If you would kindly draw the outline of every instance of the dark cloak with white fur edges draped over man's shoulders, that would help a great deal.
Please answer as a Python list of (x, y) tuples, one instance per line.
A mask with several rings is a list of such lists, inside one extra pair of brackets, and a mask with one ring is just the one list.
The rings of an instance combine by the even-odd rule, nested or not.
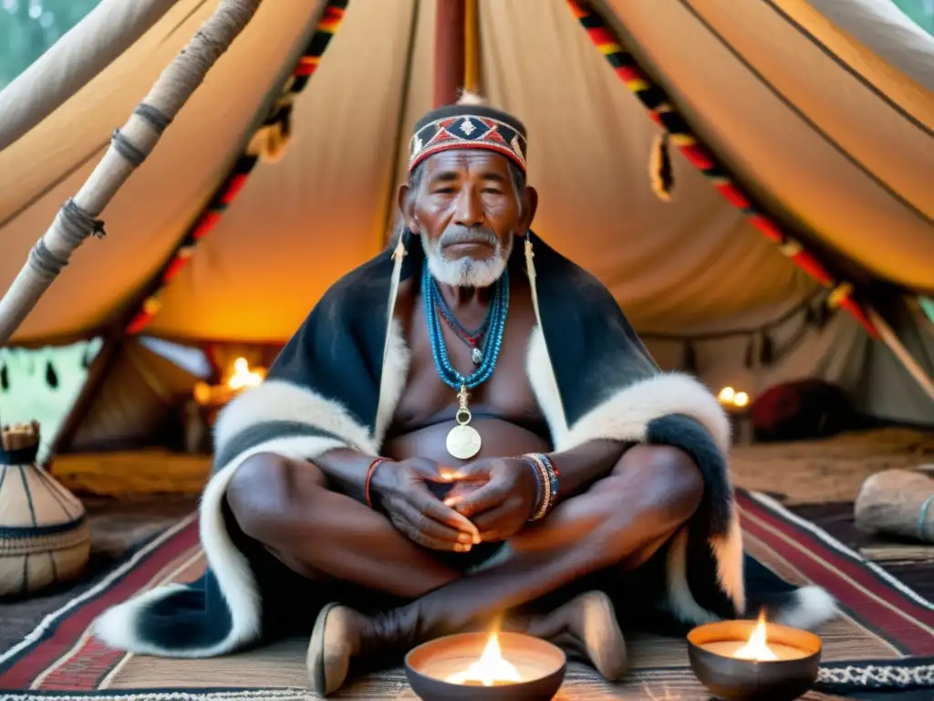
[[(667, 592), (659, 603), (686, 624), (744, 615), (747, 599), (755, 601), (749, 609), (761, 605), (763, 596), (747, 592), (743, 577), (729, 421), (715, 396), (685, 374), (661, 372), (598, 279), (537, 236), (529, 244), (523, 255), (517, 241), (510, 265), (531, 281), (538, 325), (527, 373), (554, 450), (609, 438), (689, 453), (701, 468), (704, 494), (666, 546)], [(109, 609), (96, 622), (98, 637), (122, 650), (178, 657), (219, 655), (262, 640), (260, 573), (227, 527), (225, 489), (237, 467), (259, 452), (306, 460), (339, 447), (379, 454), (409, 365), (392, 322), (398, 281), (417, 280), (424, 260), (417, 242), (408, 248), (403, 255), (401, 241), (396, 254), (384, 250), (336, 282), (267, 379), (220, 414), (200, 507), (204, 577)], [(771, 579), (771, 620), (812, 627), (832, 615), (823, 590), (781, 582), (776, 596), (777, 578)]]

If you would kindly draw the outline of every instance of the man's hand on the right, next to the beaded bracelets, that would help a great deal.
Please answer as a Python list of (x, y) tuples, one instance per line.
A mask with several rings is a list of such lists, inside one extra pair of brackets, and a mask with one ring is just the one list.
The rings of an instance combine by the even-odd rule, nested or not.
[(459, 467), (454, 481), (445, 504), (474, 522), (486, 542), (515, 536), (531, 518), (538, 479), (524, 458), (477, 460)]

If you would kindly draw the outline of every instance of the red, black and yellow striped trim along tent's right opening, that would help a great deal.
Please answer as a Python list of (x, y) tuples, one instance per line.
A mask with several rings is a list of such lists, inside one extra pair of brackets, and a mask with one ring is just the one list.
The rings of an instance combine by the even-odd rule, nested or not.
[[(613, 66), (616, 75), (639, 98), (652, 121), (665, 130), (672, 144), (681, 151), (687, 161), (713, 183), (729, 204), (742, 211), (759, 233), (772, 243), (778, 244), (779, 250), (785, 256), (818, 283), (832, 290), (828, 295), (830, 307), (846, 309), (870, 336), (878, 338), (879, 330), (871, 321), (867, 310), (855, 298), (853, 283), (834, 277), (827, 266), (806, 250), (799, 240), (790, 236), (779, 222), (754, 204), (752, 198), (743, 192), (743, 188), (718, 161), (714, 152), (704, 146), (701, 139), (693, 133), (664, 89), (649, 77), (635, 56), (623, 48), (622, 38), (590, 7), (587, 0), (567, 0), (567, 3), (574, 17), (587, 30), (587, 36), (594, 46)], [(662, 192), (667, 194), (664, 188)]]

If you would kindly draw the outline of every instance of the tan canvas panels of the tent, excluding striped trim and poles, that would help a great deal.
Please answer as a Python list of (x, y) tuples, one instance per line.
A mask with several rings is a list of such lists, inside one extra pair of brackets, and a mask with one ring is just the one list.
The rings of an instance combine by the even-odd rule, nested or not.
[[(860, 0), (857, 21), (832, 2), (769, 0), (741, 11), (728, 0), (595, 3), (773, 215), (861, 281), (929, 294), (934, 84), (925, 66), (934, 64), (934, 38), (907, 29), (887, 5)], [(351, 0), (296, 98), (289, 149), (257, 166), (163, 294), (147, 334), (283, 342), (333, 280), (385, 245), (404, 140), (431, 107), (434, 6)], [(178, 0), (0, 151), (0, 288), (87, 179), (113, 127), (216, 7)], [(87, 336), (158, 270), (242, 150), (318, 10), (262, 4), (106, 208), (109, 236), (77, 251), (14, 342)], [(522, 0), (481, 0), (478, 16), (482, 92), (529, 128), (530, 180), (541, 195), (536, 232), (600, 277), (637, 330), (755, 326), (814, 293), (814, 282), (678, 154), (672, 202), (652, 193), (647, 167), (658, 127), (565, 0), (542, 0), (534, 12)], [(928, 332), (903, 321), (910, 350), (934, 356)], [(793, 333), (786, 325), (779, 336)], [(747, 343), (699, 344), (701, 379), (755, 393), (816, 375), (840, 381), (877, 413), (931, 415), (888, 351), (841, 315), (765, 369), (743, 365)], [(662, 365), (680, 362), (680, 343), (649, 347)]]

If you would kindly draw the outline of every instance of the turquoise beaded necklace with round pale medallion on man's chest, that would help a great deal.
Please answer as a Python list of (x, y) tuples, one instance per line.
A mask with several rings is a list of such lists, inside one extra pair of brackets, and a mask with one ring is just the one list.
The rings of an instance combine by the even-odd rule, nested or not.
[(451, 389), (458, 391), (459, 408), (457, 414), (455, 414), (455, 421), (458, 425), (447, 434), (447, 451), (460, 460), (467, 460), (480, 451), (481, 445), (480, 434), (477, 433), (473, 426), (469, 425), (473, 417), (470, 408), (467, 406), (467, 390), (472, 390), (474, 387), (486, 382), (496, 368), (496, 361), (499, 358), (500, 347), (502, 346), (502, 332), (505, 329), (506, 316), (509, 313), (509, 271), (503, 270), (502, 276), (496, 281), (496, 289), (490, 302), (488, 342), (486, 351), (483, 354), (483, 361), (473, 373), (466, 377), (454, 369), (447, 357), (445, 337), (441, 332), (441, 322), (438, 319), (437, 312), (441, 293), (437, 286), (432, 283), (432, 275), (428, 269), (428, 261), (426, 261), (422, 268), (421, 290), (424, 297), (425, 317), (428, 321), (428, 336), (432, 344), (434, 366), (442, 381)]

